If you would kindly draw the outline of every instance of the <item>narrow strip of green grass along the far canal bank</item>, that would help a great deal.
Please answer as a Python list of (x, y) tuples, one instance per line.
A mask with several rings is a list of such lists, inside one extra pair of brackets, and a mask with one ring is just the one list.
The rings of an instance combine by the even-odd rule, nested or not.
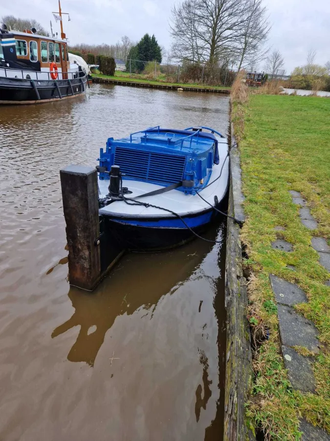
[(160, 86), (177, 86), (177, 87), (196, 87), (199, 89), (224, 89), (224, 90), (230, 90), (230, 87), (224, 87), (224, 86), (207, 86), (205, 84), (198, 84), (198, 83), (169, 83), (166, 81), (166, 75), (165, 73), (160, 73), (157, 75), (157, 80), (150, 80), (147, 79), (147, 75), (143, 74), (136, 74), (132, 73), (130, 76), (127, 72), (120, 72), (116, 71), (113, 76), (111, 75), (103, 75), (101, 73), (93, 73), (92, 76), (99, 77), (99, 78), (109, 78), (114, 79), (116, 81), (130, 81), (132, 83), (145, 83), (145, 84), (152, 84), (152, 85), (160, 85)]

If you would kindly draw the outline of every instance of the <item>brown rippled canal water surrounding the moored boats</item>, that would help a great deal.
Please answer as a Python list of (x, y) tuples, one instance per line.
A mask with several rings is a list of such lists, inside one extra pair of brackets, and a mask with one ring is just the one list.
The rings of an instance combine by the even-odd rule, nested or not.
[(176, 250), (127, 254), (94, 293), (69, 287), (59, 170), (108, 137), (214, 126), (220, 95), (93, 85), (0, 107), (0, 440), (220, 440), (225, 221)]

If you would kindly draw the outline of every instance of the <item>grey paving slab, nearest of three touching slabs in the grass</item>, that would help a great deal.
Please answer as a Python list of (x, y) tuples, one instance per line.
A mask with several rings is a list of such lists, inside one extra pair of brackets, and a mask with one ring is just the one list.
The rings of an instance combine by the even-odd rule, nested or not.
[(294, 349), (282, 346), (284, 366), (293, 389), (301, 392), (315, 392), (315, 377), (312, 362)]

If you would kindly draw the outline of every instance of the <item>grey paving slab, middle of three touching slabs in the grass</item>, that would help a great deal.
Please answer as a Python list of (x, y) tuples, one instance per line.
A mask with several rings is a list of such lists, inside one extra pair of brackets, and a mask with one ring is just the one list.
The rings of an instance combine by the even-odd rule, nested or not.
[(277, 306), (280, 335), (284, 346), (304, 346), (308, 350), (319, 353), (317, 329), (314, 324), (297, 314), (288, 306)]

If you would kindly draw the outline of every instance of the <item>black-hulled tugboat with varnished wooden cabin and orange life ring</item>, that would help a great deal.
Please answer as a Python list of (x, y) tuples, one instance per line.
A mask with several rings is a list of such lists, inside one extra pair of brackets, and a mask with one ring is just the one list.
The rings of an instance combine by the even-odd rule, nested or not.
[(61, 30), (59, 39), (38, 35), (35, 28), (19, 32), (0, 25), (0, 104), (44, 102), (85, 92), (87, 72), (70, 63), (62, 21)]

